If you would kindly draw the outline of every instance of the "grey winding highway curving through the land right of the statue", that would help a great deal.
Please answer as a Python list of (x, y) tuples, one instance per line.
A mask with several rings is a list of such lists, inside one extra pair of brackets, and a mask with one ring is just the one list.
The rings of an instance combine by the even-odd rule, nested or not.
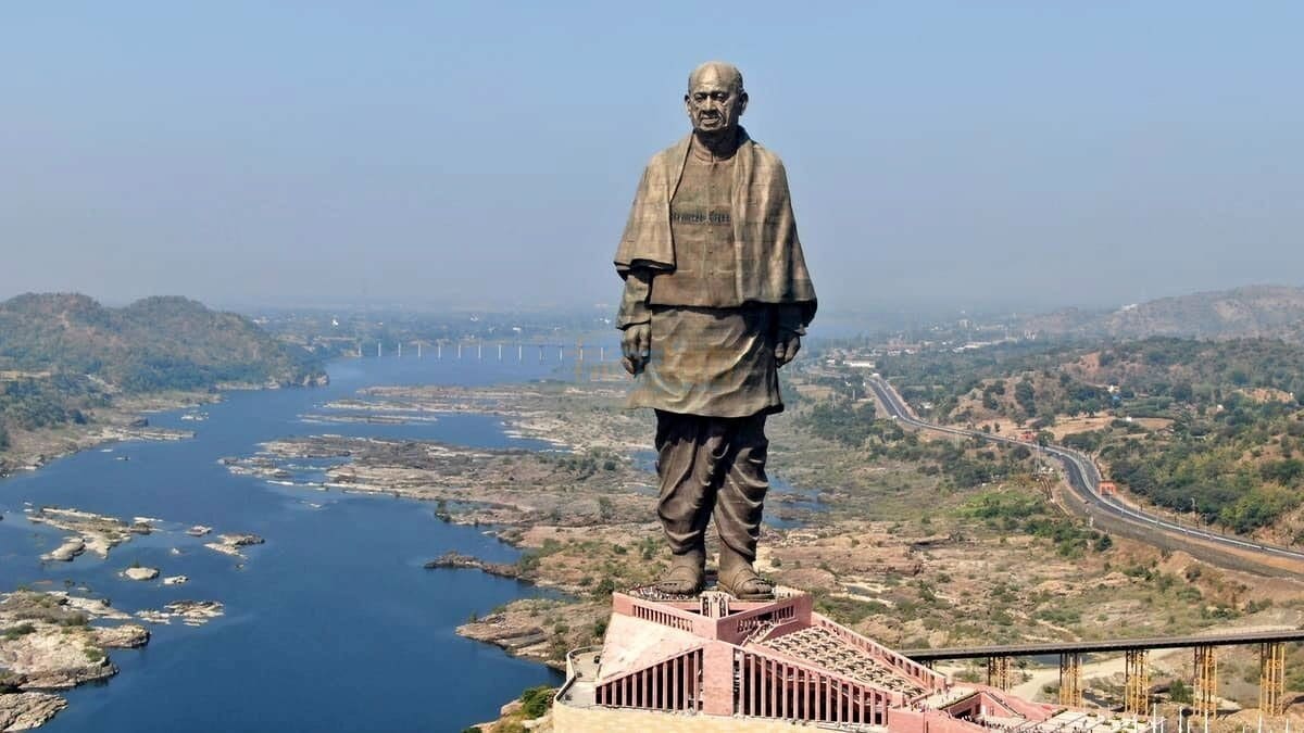
[[(1205, 557), (1206, 560), (1210, 560), (1217, 565), (1231, 565), (1231, 566), (1253, 565), (1254, 570), (1258, 570), (1261, 573), (1267, 573), (1271, 575), (1284, 574), (1296, 578), (1304, 576), (1304, 552), (1291, 548), (1283, 548), (1279, 545), (1256, 543), (1253, 540), (1247, 540), (1244, 537), (1222, 535), (1198, 527), (1185, 527), (1175, 522), (1171, 522), (1168, 519), (1164, 519), (1162, 516), (1157, 516), (1154, 514), (1149, 514), (1136, 507), (1128, 506), (1121, 501), (1119, 501), (1118, 497), (1110, 494), (1102, 494), (1101, 472), (1095, 467), (1095, 462), (1093, 462), (1090, 458), (1076, 450), (1054, 445), (1038, 446), (1037, 443), (1031, 443), (1028, 441), (1007, 438), (1004, 436), (994, 436), (991, 433), (983, 433), (982, 430), (968, 430), (964, 428), (951, 428), (945, 425), (934, 425), (931, 423), (925, 423), (923, 420), (919, 420), (911, 413), (905, 400), (901, 399), (901, 395), (897, 394), (897, 391), (892, 387), (892, 385), (889, 385), (887, 380), (884, 380), (883, 377), (879, 377), (878, 374), (867, 377), (865, 380), (865, 385), (868, 389), (874, 390), (874, 394), (878, 396), (879, 403), (882, 403), (883, 407), (887, 408), (888, 415), (902, 424), (911, 425), (915, 428), (922, 428), (926, 430), (949, 433), (953, 436), (981, 438), (991, 442), (1026, 445), (1034, 450), (1039, 449), (1050, 455), (1054, 455), (1064, 464), (1064, 471), (1068, 476), (1068, 486), (1073, 493), (1073, 496), (1082, 503), (1085, 514), (1097, 518), (1097, 520), (1110, 519), (1112, 520), (1110, 523), (1114, 524), (1115, 527), (1120, 524), (1125, 526), (1127, 528), (1132, 530), (1127, 531), (1125, 533), (1134, 539), (1159, 546), (1170, 546), (1170, 549), (1171, 545), (1174, 544), (1184, 545), (1180, 549), (1191, 552), (1193, 556), (1197, 557)], [(1168, 541), (1159, 541), (1161, 539), (1166, 539)], [(1181, 541), (1183, 539), (1187, 541), (1183, 543)], [(1239, 562), (1231, 561), (1226, 553), (1201, 552), (1206, 549), (1202, 545), (1213, 545), (1215, 548), (1239, 550), (1237, 553)], [(1277, 562), (1270, 565), (1265, 562), (1254, 562), (1253, 560), (1245, 557), (1247, 553), (1251, 557), (1257, 556), (1264, 560), (1271, 558), (1277, 560)], [(1210, 554), (1217, 557), (1210, 557)], [(1291, 562), (1283, 563), (1281, 562), (1282, 560), (1297, 561), (1300, 565), (1292, 565)]]

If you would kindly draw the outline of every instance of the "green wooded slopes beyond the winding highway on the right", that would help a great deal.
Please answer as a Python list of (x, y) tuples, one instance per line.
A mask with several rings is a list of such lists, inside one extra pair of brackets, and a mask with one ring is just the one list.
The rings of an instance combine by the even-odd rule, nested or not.
[[(917, 406), (931, 402), (926, 415), (939, 421), (1037, 432), (1110, 416), (1063, 443), (1098, 455), (1110, 479), (1158, 505), (1252, 532), (1304, 503), (1301, 364), (1304, 347), (1278, 340), (1150, 338), (885, 357), (880, 372)], [(961, 485), (977, 477), (949, 471)]]

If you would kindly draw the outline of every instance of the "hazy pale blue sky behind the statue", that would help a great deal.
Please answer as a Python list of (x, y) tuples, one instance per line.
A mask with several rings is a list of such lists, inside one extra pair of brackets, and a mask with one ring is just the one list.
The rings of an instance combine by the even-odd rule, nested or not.
[(1301, 3), (8, 3), (0, 299), (591, 307), (737, 64), (820, 308), (1304, 284)]

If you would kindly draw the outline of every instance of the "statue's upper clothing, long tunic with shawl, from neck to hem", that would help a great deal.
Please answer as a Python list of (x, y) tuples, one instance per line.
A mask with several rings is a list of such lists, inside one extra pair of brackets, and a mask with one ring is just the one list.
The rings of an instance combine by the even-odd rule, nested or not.
[(741, 134), (728, 159), (686, 138), (643, 175), (615, 257), (626, 278), (617, 325), (652, 331), (631, 407), (709, 417), (782, 410), (776, 335), (803, 333), (815, 292), (782, 164)]

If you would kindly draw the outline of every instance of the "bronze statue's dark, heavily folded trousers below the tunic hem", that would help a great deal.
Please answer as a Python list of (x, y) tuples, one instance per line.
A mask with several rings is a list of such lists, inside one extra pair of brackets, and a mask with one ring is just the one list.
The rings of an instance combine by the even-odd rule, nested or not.
[(659, 410), (657, 515), (675, 556), (705, 557), (712, 515), (720, 563), (756, 560), (765, 490), (765, 415), (707, 417)]

